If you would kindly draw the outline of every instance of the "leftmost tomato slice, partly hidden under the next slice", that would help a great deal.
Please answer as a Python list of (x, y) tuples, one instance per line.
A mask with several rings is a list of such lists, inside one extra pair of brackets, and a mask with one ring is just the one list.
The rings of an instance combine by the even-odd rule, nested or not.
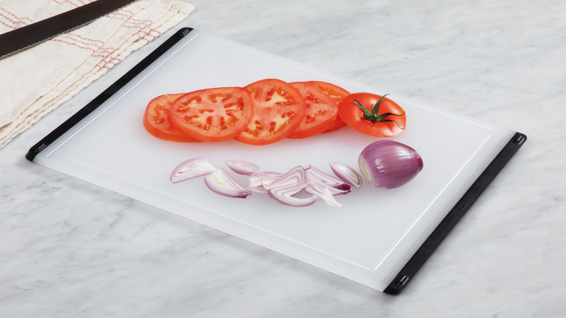
[(167, 119), (173, 101), (183, 95), (184, 94), (167, 94), (149, 101), (144, 114), (144, 127), (149, 134), (159, 139), (169, 141), (201, 142), (199, 139), (181, 134), (181, 131), (174, 129)]

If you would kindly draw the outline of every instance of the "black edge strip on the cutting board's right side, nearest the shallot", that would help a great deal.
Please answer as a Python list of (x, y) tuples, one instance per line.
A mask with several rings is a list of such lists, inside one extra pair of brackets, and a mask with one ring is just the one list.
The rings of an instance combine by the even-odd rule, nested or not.
[(442, 219), (442, 222), (438, 224), (436, 229), (430, 234), (421, 247), (419, 247), (411, 259), (409, 259), (409, 262), (405, 264), (403, 269), (401, 269), (397, 277), (393, 279), (384, 292), (387, 294), (399, 294), (399, 292), (407, 286), (409, 280), (412, 279), (414, 274), (425, 264), (430, 255), (435, 252), (440, 243), (447, 237), (448, 233), (450, 233), (458, 221), (462, 219), (467, 210), (476, 202), (480, 194), (490, 185), (493, 179), (495, 179), (495, 176), (505, 167), (505, 164), (509, 162), (511, 157), (525, 144), (526, 140), (527, 136), (517, 132), (515, 136), (507, 142), (505, 147), (495, 156), (495, 159), (487, 166), (484, 172), (480, 174), (480, 177), (476, 179), (470, 189), (462, 196), (462, 199), (460, 199), (447, 216)]

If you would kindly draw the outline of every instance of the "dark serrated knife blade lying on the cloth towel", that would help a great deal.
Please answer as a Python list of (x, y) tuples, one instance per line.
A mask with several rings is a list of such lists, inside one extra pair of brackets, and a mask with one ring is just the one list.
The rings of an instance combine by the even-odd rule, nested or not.
[(116, 11), (134, 0), (98, 0), (0, 34), (0, 57), (39, 44)]

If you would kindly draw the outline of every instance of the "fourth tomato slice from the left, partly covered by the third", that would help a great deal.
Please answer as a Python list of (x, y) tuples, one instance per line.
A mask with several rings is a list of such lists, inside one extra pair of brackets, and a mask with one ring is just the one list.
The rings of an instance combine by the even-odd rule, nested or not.
[(338, 116), (338, 104), (322, 89), (312, 84), (296, 81), (291, 83), (304, 97), (307, 115), (287, 138), (302, 139), (320, 134), (332, 127)]

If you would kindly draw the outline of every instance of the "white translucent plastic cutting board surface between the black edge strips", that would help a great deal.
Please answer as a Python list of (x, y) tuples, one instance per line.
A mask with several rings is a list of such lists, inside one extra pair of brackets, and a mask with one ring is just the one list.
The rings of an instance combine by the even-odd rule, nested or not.
[[(266, 78), (328, 81), (352, 93), (391, 94), (407, 111), (407, 128), (392, 139), (416, 149), (424, 169), (397, 189), (377, 189), (367, 182), (352, 188), (352, 193), (337, 197), (344, 205), (341, 209), (323, 202), (292, 208), (262, 194), (221, 197), (202, 178), (169, 182), (177, 164), (197, 156), (224, 167), (243, 185), (247, 179), (232, 173), (224, 161), (242, 159), (272, 172), (312, 164), (329, 174), (329, 162), (343, 162), (359, 171), (360, 152), (379, 139), (348, 126), (308, 139), (251, 146), (234, 140), (163, 141), (142, 125), (147, 103), (156, 96), (245, 86)], [(34, 162), (383, 291), (513, 134), (194, 30), (41, 151)]]

